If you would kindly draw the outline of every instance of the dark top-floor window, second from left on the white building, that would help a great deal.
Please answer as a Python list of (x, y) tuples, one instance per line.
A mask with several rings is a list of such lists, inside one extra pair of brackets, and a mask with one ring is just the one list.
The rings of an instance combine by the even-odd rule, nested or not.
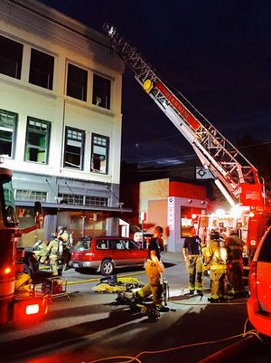
[[(41, 58), (42, 56), (43, 58), (43, 62), (48, 62), (47, 66), (48, 66), (48, 70), (42, 70), (42, 62), (41, 62)], [(47, 58), (47, 60), (46, 60)], [(29, 78), (28, 81), (31, 84), (34, 84), (35, 86), (39, 86), (42, 88), (45, 88), (46, 90), (51, 90), (52, 91), (52, 87), (53, 87), (53, 72), (54, 72), (54, 60), (55, 57), (52, 56), (51, 54), (39, 51), (37, 49), (32, 48), (31, 49), (31, 54), (30, 54), (30, 65), (29, 65)], [(47, 86), (45, 86), (45, 82), (42, 84), (42, 82), (39, 82), (39, 77), (36, 78), (37, 73), (38, 75), (41, 74), (41, 72), (43, 72), (44, 74), (47, 74)], [(46, 73), (47, 72), (47, 73)], [(38, 80), (38, 81), (36, 81)], [(44, 81), (44, 80), (42, 80)]]

